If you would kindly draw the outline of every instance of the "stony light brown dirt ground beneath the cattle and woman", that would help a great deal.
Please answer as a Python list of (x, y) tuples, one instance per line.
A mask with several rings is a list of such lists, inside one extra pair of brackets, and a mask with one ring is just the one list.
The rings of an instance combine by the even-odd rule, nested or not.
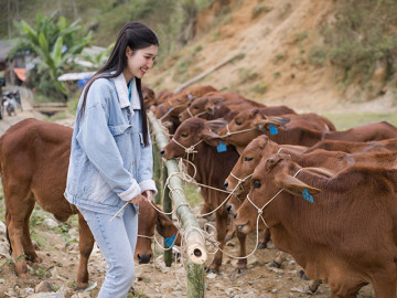
[[(45, 215), (47, 216), (52, 217)], [(78, 232), (76, 227), (71, 227), (64, 233), (71, 236), (69, 241), (44, 224), (34, 228), (36, 237), (45, 240), (45, 247), (37, 251), (41, 263), (29, 263), (28, 279), (15, 276), (14, 265), (10, 262), (9, 255), (0, 255), (0, 297), (30, 297), (34, 295), (34, 288), (42, 281), (50, 284), (52, 295), (54, 295), (42, 297), (96, 297), (105, 277), (106, 263), (95, 246), (88, 267), (92, 289), (78, 291), (76, 288), (78, 243), (74, 241), (78, 238)], [(159, 236), (158, 240), (161, 241)], [(0, 243), (6, 243), (3, 234), (0, 234)], [(247, 244), (247, 252), (251, 252), (256, 244), (255, 234), (249, 235)], [(154, 263), (136, 265), (135, 297), (185, 297), (184, 267), (181, 262), (165, 267), (162, 251), (155, 247)], [(226, 251), (232, 255), (237, 255), (238, 241), (230, 240)], [(308, 287), (309, 281), (300, 278), (301, 268), (291, 257), (280, 269), (269, 267), (268, 264), (275, 259), (277, 253), (278, 249), (271, 243), (268, 248), (256, 251), (248, 258), (248, 270), (240, 275), (235, 270), (237, 260), (225, 256), (221, 274), (205, 274), (205, 297), (330, 297), (328, 285), (321, 285), (314, 295), (304, 292), (303, 289)], [(132, 297), (132, 292), (129, 297)], [(372, 287), (363, 288), (358, 297), (374, 297)]]

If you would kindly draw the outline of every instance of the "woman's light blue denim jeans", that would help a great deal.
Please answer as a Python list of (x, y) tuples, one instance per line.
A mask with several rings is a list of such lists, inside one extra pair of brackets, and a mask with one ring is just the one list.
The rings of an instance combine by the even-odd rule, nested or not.
[(99, 298), (127, 297), (133, 281), (133, 254), (138, 236), (138, 205), (128, 204), (122, 215), (116, 216), (79, 209), (103, 256), (106, 277)]

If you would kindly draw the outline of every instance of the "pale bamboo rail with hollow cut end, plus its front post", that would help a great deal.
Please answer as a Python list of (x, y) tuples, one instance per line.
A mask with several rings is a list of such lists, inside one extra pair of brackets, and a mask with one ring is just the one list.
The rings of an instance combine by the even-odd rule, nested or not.
[[(168, 143), (169, 139), (162, 132), (159, 120), (151, 111), (148, 113), (148, 119), (151, 124), (151, 128), (155, 136), (159, 148), (163, 148)], [(165, 167), (168, 170), (168, 175), (179, 172), (176, 162), (174, 160), (167, 160)], [(181, 179), (176, 175), (172, 175), (169, 179), (169, 187), (170, 189), (175, 190), (171, 193), (171, 199), (176, 209), (176, 216), (181, 221), (184, 231), (184, 241), (187, 253), (187, 297), (204, 298), (204, 263), (207, 259), (205, 240), (200, 232), (200, 225), (185, 200), (184, 193), (182, 191)]]

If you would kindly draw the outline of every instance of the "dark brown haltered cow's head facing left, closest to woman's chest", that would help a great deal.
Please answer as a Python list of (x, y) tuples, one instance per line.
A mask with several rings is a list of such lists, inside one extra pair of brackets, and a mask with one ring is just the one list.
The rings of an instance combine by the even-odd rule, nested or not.
[(226, 124), (224, 119), (207, 121), (197, 117), (190, 118), (178, 127), (173, 139), (161, 150), (161, 155), (167, 159), (184, 157), (189, 153), (189, 148), (196, 150), (203, 141), (216, 146), (222, 138), (215, 132)]

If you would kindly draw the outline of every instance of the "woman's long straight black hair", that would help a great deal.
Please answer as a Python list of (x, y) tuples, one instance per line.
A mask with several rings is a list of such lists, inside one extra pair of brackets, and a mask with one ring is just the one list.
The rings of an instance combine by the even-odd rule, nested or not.
[[(83, 96), (82, 107), (78, 113), (78, 120), (84, 115), (84, 109), (87, 102), (87, 93), (93, 82), (99, 77), (105, 77), (105, 78), (117, 77), (122, 73), (122, 71), (127, 66), (127, 56), (126, 56), (127, 46), (129, 46), (133, 52), (140, 49), (148, 47), (150, 45), (157, 45), (157, 46), (160, 45), (159, 38), (157, 36), (153, 30), (139, 22), (128, 22), (122, 26), (117, 38), (115, 47), (112, 49), (111, 54), (108, 61), (106, 62), (105, 66), (101, 67), (98, 72), (96, 72), (92, 76), (92, 78), (89, 78), (87, 83), (84, 85), (84, 92), (83, 92), (84, 96)], [(111, 72), (115, 73), (110, 74)], [(149, 145), (148, 119), (143, 104), (141, 79), (136, 77), (136, 82), (137, 82), (137, 89), (141, 106), (143, 143), (144, 146), (148, 146)]]

